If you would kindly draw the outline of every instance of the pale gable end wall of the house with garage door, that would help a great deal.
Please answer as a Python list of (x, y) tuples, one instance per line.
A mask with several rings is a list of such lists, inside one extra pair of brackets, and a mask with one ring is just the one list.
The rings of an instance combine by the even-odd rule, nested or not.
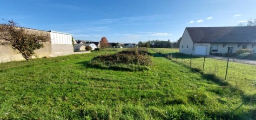
[[(182, 48), (183, 46), (183, 48)], [(188, 46), (188, 48), (187, 48)], [(182, 36), (182, 40), (180, 42), (180, 48), (179, 48), (180, 53), (184, 54), (191, 54), (193, 53), (193, 41), (189, 36), (189, 32), (185, 30)]]

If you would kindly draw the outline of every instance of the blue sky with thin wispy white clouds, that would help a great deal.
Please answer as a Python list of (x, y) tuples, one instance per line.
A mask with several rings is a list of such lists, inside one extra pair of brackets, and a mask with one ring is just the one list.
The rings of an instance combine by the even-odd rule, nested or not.
[(256, 0), (0, 0), (0, 22), (73, 34), (74, 39), (176, 41), (186, 27), (256, 19)]

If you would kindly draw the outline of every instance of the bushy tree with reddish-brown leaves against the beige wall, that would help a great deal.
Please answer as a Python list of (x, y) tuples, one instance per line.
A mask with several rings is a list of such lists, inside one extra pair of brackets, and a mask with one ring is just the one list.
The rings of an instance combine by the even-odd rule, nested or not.
[(29, 60), (35, 54), (34, 50), (44, 47), (43, 43), (50, 41), (47, 35), (29, 34), (19, 27), (13, 20), (0, 24), (0, 42), (2, 45), (10, 45), (18, 50), (22, 56)]

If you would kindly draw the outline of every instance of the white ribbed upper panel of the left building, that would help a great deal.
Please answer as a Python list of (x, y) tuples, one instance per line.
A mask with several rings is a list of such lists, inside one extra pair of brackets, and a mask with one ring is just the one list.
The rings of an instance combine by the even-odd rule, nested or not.
[(72, 44), (72, 35), (51, 32), (52, 44)]

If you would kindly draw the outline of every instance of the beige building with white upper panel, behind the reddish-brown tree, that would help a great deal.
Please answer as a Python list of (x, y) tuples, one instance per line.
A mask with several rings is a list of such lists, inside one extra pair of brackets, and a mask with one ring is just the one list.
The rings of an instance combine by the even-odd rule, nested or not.
[[(51, 42), (44, 43), (43, 48), (35, 50), (35, 55), (37, 57), (56, 57), (74, 54), (72, 34), (56, 31), (42, 31), (24, 27), (23, 29), (31, 34), (46, 34), (51, 40)], [(0, 63), (19, 60), (25, 60), (19, 51), (14, 51), (10, 45), (0, 45)]]

